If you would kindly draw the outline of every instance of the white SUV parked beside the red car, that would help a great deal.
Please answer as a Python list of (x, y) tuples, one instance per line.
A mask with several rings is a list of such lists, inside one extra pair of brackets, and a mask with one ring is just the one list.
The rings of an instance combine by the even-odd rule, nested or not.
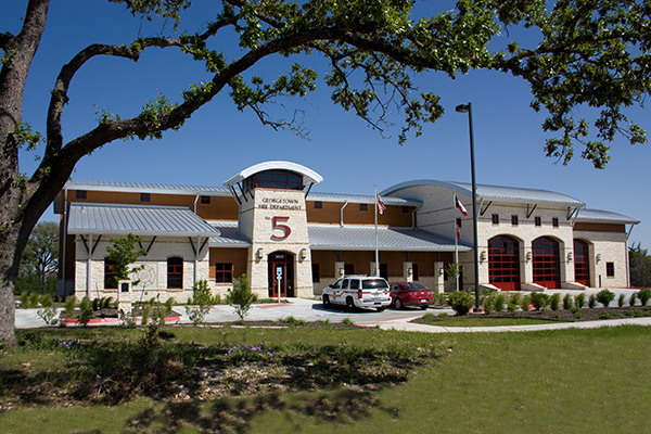
[(372, 307), (379, 311), (391, 305), (391, 291), (386, 280), (380, 277), (346, 276), (323, 290), (323, 306), (343, 305), (349, 310), (355, 307)]

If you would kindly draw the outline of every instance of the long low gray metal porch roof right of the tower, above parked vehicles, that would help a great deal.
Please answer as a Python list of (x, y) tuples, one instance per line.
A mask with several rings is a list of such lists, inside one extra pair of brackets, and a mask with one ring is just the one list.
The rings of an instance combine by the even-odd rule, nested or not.
[[(375, 228), (372, 226), (310, 225), (309, 245), (315, 251), (374, 251)], [(378, 228), (378, 250), (407, 252), (454, 252), (455, 240), (411, 228)], [(470, 251), (459, 243), (459, 252)]]

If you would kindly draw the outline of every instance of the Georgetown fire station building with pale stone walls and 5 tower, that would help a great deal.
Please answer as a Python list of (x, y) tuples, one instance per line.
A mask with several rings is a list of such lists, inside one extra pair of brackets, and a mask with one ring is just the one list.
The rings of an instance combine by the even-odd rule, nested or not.
[[(469, 184), (404, 182), (380, 193), (386, 208), (376, 215), (374, 195), (312, 191), (322, 180), (291, 162), (254, 165), (222, 187), (72, 180), (54, 203), (61, 288), (115, 298), (106, 247), (129, 233), (146, 251), (130, 289), (145, 299), (184, 301), (199, 280), (224, 294), (242, 275), (260, 297), (311, 297), (353, 273), (444, 292), (455, 285), (445, 271), (455, 257), (463, 288), (474, 284)], [(482, 286), (628, 285), (627, 240), (638, 220), (546, 190), (477, 186), (476, 193)]]

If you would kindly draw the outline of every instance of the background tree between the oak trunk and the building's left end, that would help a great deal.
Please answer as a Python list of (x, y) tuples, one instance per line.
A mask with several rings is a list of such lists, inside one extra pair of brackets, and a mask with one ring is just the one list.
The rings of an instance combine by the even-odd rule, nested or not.
[(46, 221), (36, 225), (21, 258), (15, 292), (38, 291), (54, 294), (59, 269), (59, 225)]

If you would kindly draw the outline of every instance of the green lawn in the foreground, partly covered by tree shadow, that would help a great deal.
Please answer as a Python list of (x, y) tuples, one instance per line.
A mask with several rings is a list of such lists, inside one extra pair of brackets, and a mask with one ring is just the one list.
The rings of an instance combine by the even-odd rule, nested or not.
[[(299, 360), (305, 366), (292, 371), (294, 376), (319, 368), (334, 381), (318, 390), (302, 386), (314, 385), (311, 379), (312, 383), (288, 383), (298, 385), (291, 390), (261, 388), (255, 396), (205, 401), (169, 401), (150, 396), (119, 405), (65, 407), (63, 399), (47, 406), (22, 400), (0, 414), (0, 432), (649, 432), (651, 328), (454, 335), (327, 327), (165, 330), (174, 333), (176, 337), (169, 344), (177, 347), (225, 348), (264, 342), (278, 350), (276, 357), (282, 356), (275, 359), (276, 368)], [(47, 337), (65, 333), (65, 339), (123, 342), (143, 331), (43, 333)], [(323, 355), (330, 359), (324, 360)], [(368, 358), (376, 371), (362, 375), (356, 355)], [(379, 356), (375, 359), (373, 355)], [(52, 372), (85, 360), (71, 358), (48, 345), (28, 344), (14, 354), (2, 355), (0, 374), (4, 379), (29, 369), (35, 378), (38, 372), (55, 376)], [(406, 370), (381, 366), (396, 362), (404, 362)], [(245, 360), (237, 367), (253, 378), (260, 366)], [(347, 372), (337, 376), (339, 368)], [(390, 381), (369, 381), (383, 374)], [(0, 386), (5, 388), (0, 390), (2, 395), (7, 395), (8, 383), (0, 382)]]

